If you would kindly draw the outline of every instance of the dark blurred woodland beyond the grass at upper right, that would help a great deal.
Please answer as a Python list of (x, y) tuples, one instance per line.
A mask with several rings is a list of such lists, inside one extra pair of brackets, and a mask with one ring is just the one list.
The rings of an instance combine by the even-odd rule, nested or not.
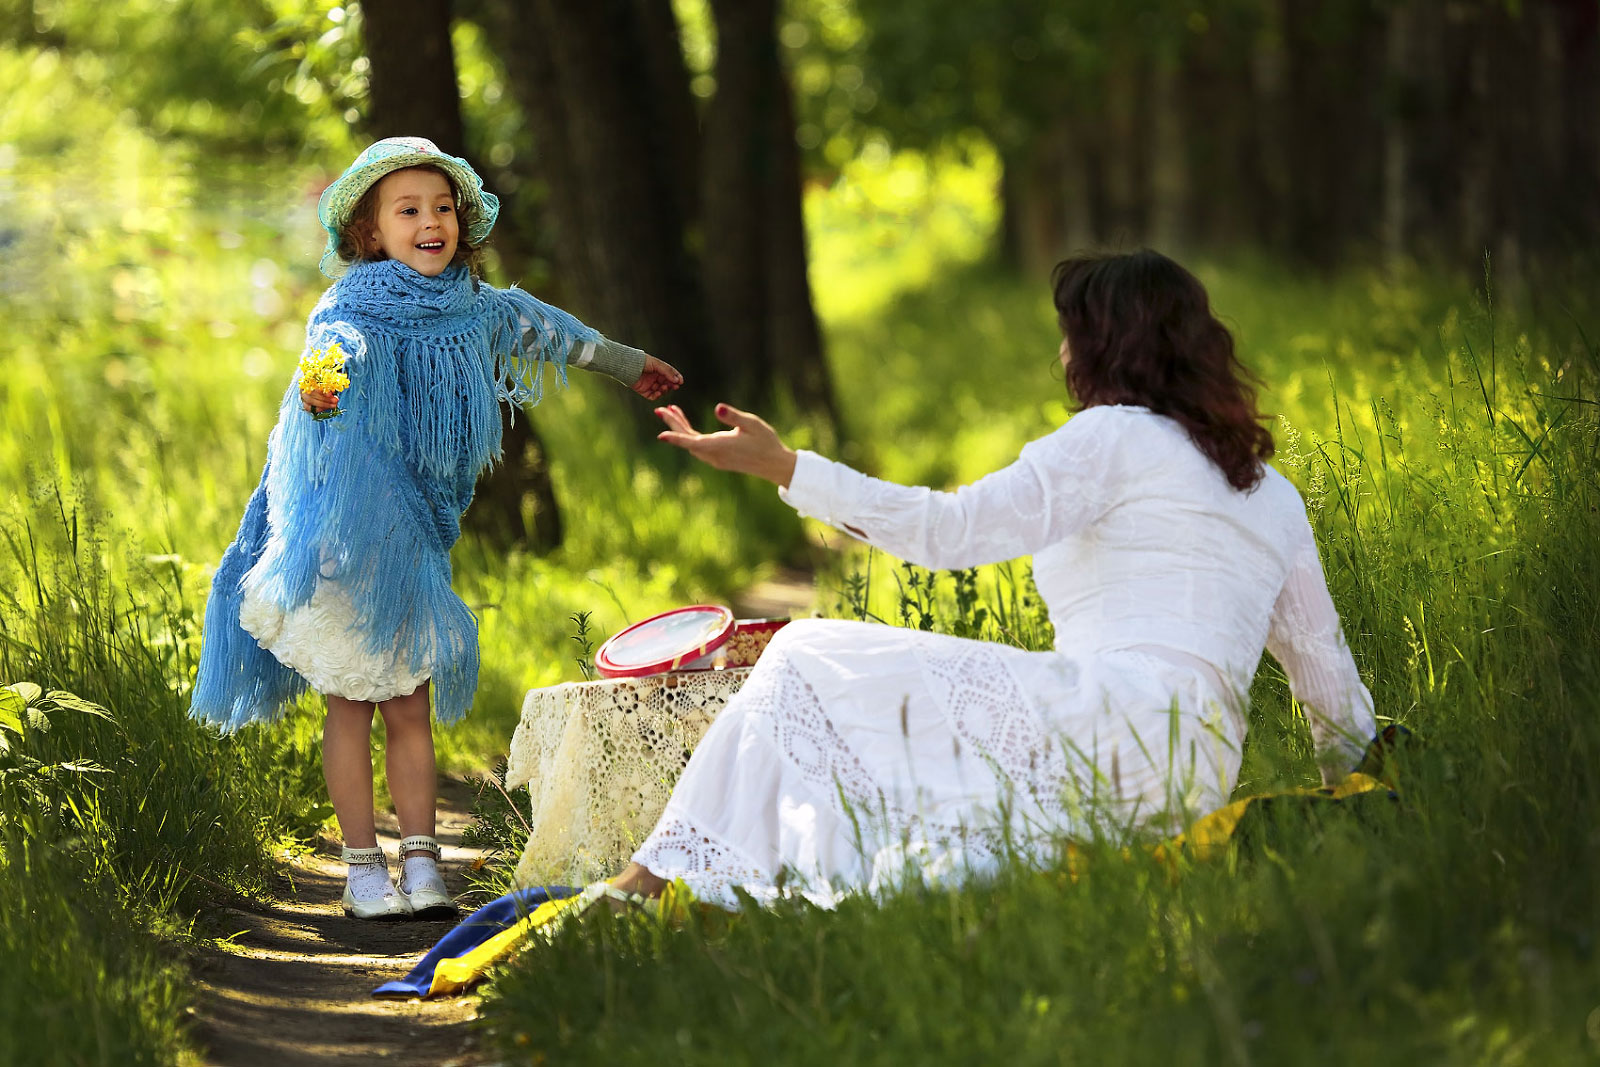
[(858, 34), (814, 38), (867, 102), (813, 115), (907, 146), (978, 131), (1005, 170), (1002, 251), (1034, 272), (1152, 242), (1320, 266), (1493, 250), (1517, 277), (1600, 235), (1594, 0), (854, 10)]

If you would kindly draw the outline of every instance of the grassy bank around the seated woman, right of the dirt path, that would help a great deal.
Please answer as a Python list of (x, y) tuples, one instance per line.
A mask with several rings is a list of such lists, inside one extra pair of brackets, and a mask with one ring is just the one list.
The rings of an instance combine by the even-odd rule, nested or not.
[[(1600, 1049), (1595, 347), (1570, 320), (1512, 325), (1482, 294), (1440, 306), (1421, 277), (1352, 275), (1320, 310), (1250, 270), (1206, 280), (1283, 413), (1278, 464), (1306, 494), (1379, 713), (1426, 739), (1400, 765), (1402, 801), (1278, 827), (1176, 880), (1090, 846), (1077, 881), (1016, 867), (682, 931), (602, 917), (496, 982), (507, 1059), (1550, 1064)], [(867, 459), (934, 483), (1008, 459), (1062, 414), (1043, 387), (1050, 328), (1042, 286), (978, 274), (835, 333)], [(891, 387), (914, 374), (939, 387)], [(928, 576), (872, 565), (843, 613), (1048, 640), (1005, 574), (976, 576), (979, 601), (941, 577), (930, 603)], [(1242, 792), (1312, 777), (1270, 662), (1246, 747)]]

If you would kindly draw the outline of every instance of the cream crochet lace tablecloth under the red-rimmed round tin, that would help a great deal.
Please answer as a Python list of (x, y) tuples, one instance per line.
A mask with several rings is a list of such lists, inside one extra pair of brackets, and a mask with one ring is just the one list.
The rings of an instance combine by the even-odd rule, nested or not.
[(587, 885), (621, 870), (749, 673), (685, 670), (530, 689), (506, 766), (506, 789), (526, 784), (533, 801), (517, 883)]

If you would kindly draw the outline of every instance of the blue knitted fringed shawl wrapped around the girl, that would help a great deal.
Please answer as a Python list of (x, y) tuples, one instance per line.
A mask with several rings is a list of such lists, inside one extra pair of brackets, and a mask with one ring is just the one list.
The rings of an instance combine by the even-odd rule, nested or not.
[(429, 278), (392, 259), (352, 266), (306, 326), (307, 350), (344, 349), (342, 414), (312, 419), (298, 381), (283, 394), (261, 485), (211, 581), (189, 713), (235, 729), (304, 693), (240, 627), (243, 587), (293, 611), (336, 581), (358, 619), (349, 640), (422, 667), (438, 720), (461, 718), (478, 683), (478, 629), (450, 589), (450, 547), (478, 475), (499, 459), (499, 403), (538, 403), (544, 363), (565, 386), (568, 350), (598, 336), (466, 267)]

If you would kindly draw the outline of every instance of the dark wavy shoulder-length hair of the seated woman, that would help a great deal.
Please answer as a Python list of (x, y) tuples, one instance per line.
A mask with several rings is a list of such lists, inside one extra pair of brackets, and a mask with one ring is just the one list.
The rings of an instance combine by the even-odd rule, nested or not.
[(1067, 389), (1083, 408), (1141, 405), (1189, 430), (1235, 490), (1261, 482), (1272, 434), (1256, 378), (1211, 314), (1200, 280), (1142, 250), (1064, 259), (1051, 272), (1067, 339)]

